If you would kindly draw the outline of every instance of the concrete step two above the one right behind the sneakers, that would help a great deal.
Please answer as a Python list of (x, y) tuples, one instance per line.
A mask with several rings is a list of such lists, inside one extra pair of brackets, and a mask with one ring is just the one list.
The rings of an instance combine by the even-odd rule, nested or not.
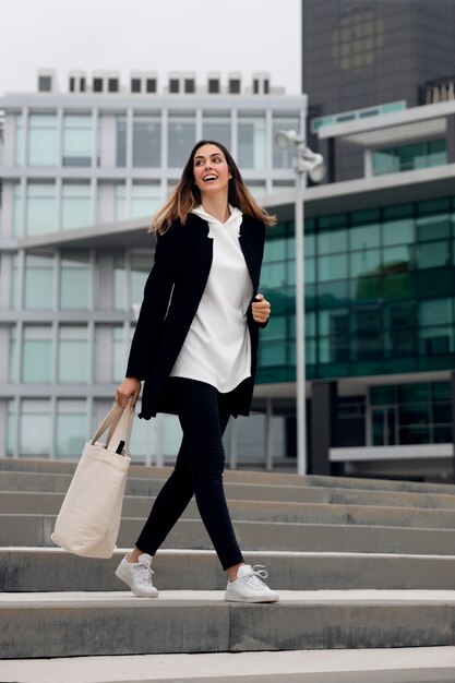
[[(36, 491), (0, 491), (1, 514), (57, 515), (63, 493)], [(155, 496), (131, 496), (123, 500), (124, 517), (146, 518)], [(287, 503), (283, 501), (229, 501), (234, 519), (248, 522), (297, 522), (306, 524), (360, 524), (372, 526), (455, 528), (455, 510), (385, 507), (380, 505), (340, 505), (336, 503)], [(194, 500), (183, 517), (197, 518)]]

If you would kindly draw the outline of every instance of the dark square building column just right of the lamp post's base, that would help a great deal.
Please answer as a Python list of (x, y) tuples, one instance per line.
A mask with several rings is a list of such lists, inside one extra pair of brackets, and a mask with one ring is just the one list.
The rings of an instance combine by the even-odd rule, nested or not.
[(309, 475), (331, 475), (330, 448), (336, 445), (337, 383), (311, 383), (311, 448)]

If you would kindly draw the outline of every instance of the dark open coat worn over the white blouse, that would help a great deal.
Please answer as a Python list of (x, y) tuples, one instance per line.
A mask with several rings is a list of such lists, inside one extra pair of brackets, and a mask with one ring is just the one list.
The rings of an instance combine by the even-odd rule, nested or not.
[[(239, 242), (254, 296), (258, 293), (264, 239), (264, 224), (243, 215)], [(145, 284), (127, 368), (128, 378), (144, 380), (140, 418), (148, 420), (157, 412), (176, 412), (171, 383), (167, 380), (204, 292), (212, 260), (213, 239), (208, 237), (208, 223), (195, 214), (188, 215), (184, 226), (175, 220), (157, 238), (155, 262)], [(250, 411), (259, 327), (263, 326), (265, 324), (253, 320), (250, 307), (251, 378), (229, 394), (230, 412), (235, 417)]]

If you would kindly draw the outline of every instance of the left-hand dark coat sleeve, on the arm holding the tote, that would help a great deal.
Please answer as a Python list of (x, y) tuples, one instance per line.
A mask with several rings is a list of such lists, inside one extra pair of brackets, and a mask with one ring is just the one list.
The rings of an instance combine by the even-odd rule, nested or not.
[(177, 227), (172, 225), (157, 238), (154, 264), (145, 283), (144, 299), (131, 343), (127, 378), (144, 380), (158, 347), (175, 283), (177, 232)]

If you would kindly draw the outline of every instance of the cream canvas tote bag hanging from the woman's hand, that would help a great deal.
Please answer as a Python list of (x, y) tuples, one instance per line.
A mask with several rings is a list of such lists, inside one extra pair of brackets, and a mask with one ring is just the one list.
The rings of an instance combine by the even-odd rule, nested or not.
[[(111, 558), (120, 528), (134, 414), (117, 404), (85, 444), (52, 541), (76, 555)], [(108, 431), (105, 443), (98, 439)]]

